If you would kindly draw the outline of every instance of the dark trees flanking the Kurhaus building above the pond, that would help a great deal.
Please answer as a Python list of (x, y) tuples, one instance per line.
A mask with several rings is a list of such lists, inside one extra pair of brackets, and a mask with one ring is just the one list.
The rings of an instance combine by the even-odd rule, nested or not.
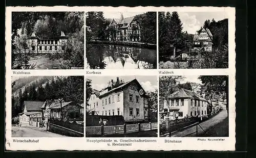
[[(105, 18), (103, 16), (103, 12), (87, 12), (87, 40), (91, 38), (106, 40), (108, 35), (106, 27), (111, 23), (112, 20), (113, 19)], [(136, 20), (136, 22), (140, 25), (140, 42), (156, 44), (156, 12), (146, 12), (144, 14), (136, 15), (134, 20)]]

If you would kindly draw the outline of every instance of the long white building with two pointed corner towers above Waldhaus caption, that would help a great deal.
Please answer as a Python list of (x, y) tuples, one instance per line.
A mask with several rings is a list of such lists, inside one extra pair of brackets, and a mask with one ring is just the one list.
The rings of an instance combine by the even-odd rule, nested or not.
[(66, 49), (68, 38), (61, 31), (61, 35), (54, 39), (40, 39), (32, 33), (29, 38), (29, 50), (36, 53), (63, 52)]

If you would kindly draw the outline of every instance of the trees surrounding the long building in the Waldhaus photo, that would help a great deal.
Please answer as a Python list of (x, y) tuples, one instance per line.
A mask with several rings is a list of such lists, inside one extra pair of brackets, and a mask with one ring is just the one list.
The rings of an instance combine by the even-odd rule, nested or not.
[(29, 57), (24, 55), (32, 33), (42, 39), (54, 39), (60, 36), (61, 31), (69, 37), (67, 50), (64, 54), (53, 54), (51, 59), (63, 58), (63, 69), (83, 67), (83, 12), (12, 12), (12, 69), (34, 68), (35, 65), (28, 62)]

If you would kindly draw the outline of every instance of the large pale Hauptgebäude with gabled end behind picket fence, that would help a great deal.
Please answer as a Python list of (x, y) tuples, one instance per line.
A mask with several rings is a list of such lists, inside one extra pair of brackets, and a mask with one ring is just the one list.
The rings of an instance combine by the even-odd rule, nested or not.
[(149, 117), (148, 96), (136, 79), (117, 85), (111, 84), (101, 91), (94, 90), (88, 104), (89, 114), (123, 116), (124, 122), (142, 122)]

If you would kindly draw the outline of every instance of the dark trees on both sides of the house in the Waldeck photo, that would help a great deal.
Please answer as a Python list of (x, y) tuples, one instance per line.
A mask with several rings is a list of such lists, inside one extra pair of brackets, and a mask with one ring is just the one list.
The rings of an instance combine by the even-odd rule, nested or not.
[[(193, 48), (193, 35), (183, 32), (178, 12), (159, 12), (159, 60), (166, 61), (177, 49)], [(188, 68), (227, 68), (228, 67), (228, 19), (215, 21), (206, 19), (204, 28), (213, 35), (212, 51), (196, 51), (198, 59), (189, 61)], [(201, 28), (202, 29), (202, 28)], [(198, 30), (199, 32), (201, 31)], [(179, 57), (175, 61), (179, 61)], [(161, 64), (162, 65), (162, 64)]]

